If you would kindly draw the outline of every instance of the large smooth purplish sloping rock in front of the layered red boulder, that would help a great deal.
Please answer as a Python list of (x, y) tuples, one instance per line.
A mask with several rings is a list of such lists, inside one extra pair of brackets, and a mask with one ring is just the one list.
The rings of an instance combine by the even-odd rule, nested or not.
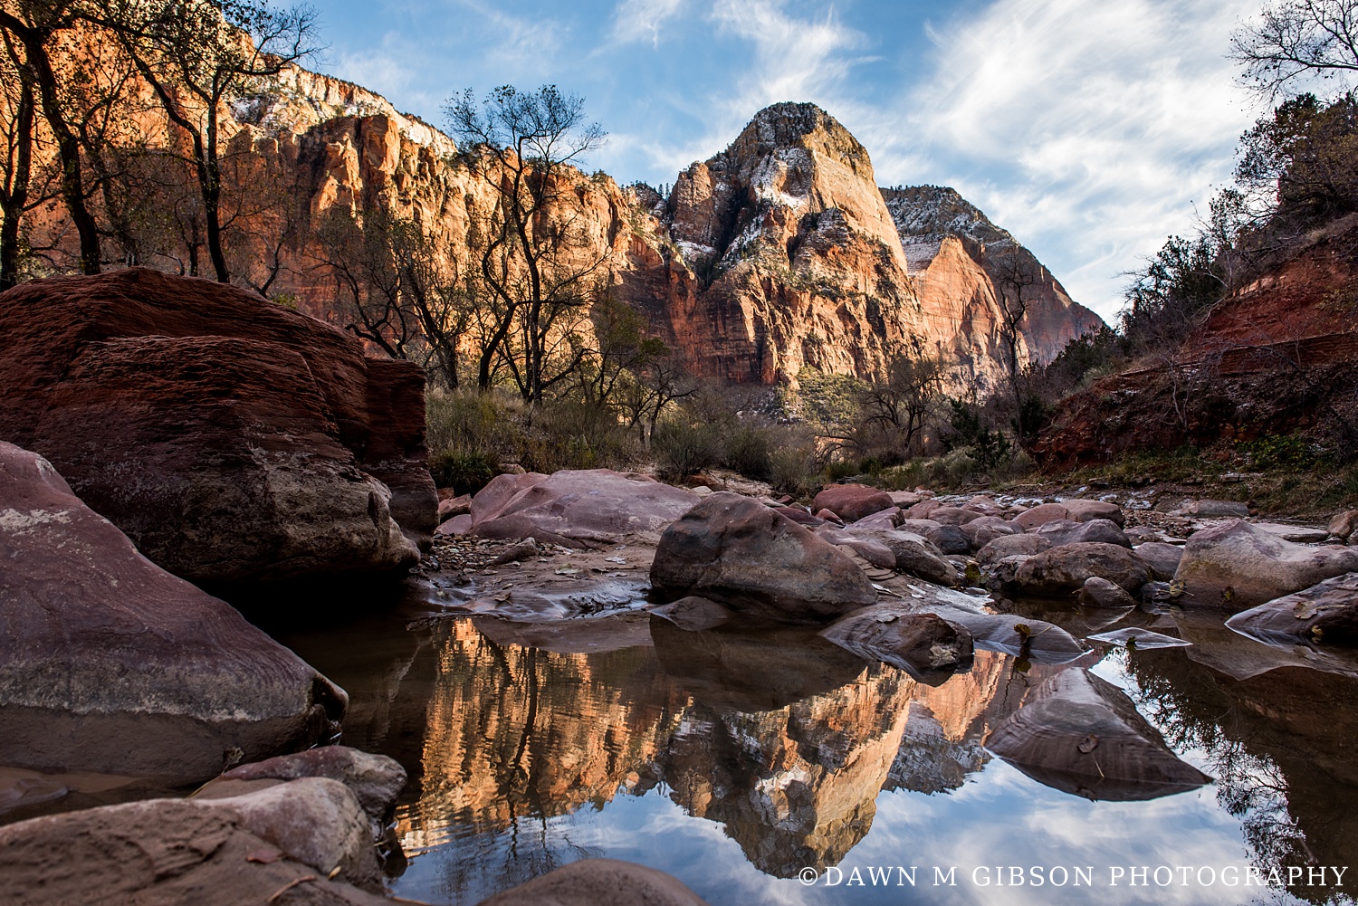
[(0, 763), (202, 782), (329, 739), (345, 693), (0, 441)]

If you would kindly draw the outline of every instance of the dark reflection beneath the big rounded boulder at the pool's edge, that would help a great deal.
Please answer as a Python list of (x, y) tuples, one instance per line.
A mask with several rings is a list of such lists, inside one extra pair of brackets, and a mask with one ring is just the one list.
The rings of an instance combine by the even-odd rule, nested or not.
[(813, 629), (728, 628), (686, 632), (650, 618), (661, 668), (703, 704), (773, 710), (853, 682), (868, 663)]

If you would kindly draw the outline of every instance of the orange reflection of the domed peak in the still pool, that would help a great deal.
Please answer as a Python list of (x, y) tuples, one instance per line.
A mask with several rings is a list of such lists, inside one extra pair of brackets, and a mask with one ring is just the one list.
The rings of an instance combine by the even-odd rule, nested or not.
[(872, 667), (784, 708), (695, 705), (657, 769), (671, 797), (722, 823), (759, 871), (792, 877), (834, 865), (872, 826), (918, 689), (900, 671)]

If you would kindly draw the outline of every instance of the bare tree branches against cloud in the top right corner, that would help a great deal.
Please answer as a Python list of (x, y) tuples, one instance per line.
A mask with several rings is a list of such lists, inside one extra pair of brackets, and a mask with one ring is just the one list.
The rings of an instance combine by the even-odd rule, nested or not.
[(1278, 0), (1230, 35), (1230, 56), (1275, 101), (1310, 79), (1358, 76), (1358, 0)]

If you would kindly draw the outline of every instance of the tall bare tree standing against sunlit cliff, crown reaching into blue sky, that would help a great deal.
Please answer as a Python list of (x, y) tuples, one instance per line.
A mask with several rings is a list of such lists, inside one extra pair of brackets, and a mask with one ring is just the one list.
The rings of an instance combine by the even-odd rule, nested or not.
[(572, 319), (599, 296), (606, 273), (608, 253), (591, 250), (568, 197), (573, 164), (602, 145), (604, 132), (587, 122), (580, 98), (555, 86), (504, 86), (481, 105), (467, 90), (445, 110), (462, 162), (494, 198), (470, 234), (483, 331), (477, 382), (488, 390), (504, 365), (536, 403), (584, 357), (569, 340)]

